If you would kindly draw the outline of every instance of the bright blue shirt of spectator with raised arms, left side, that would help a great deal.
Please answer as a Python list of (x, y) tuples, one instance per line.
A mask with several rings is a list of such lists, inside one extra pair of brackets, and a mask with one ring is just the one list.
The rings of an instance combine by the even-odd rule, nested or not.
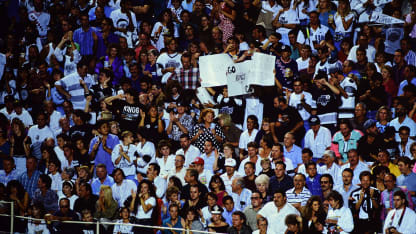
[[(90, 150), (88, 151), (89, 154), (91, 154), (92, 147), (97, 141), (98, 141), (98, 136), (94, 137), (91, 140)], [(113, 135), (113, 134), (108, 134), (107, 143), (106, 143), (107, 148), (112, 150), (119, 143), (120, 143), (120, 140), (118, 139), (118, 136)], [(113, 162), (111, 161), (111, 154), (107, 153), (107, 151), (104, 150), (102, 143), (100, 143), (100, 146), (98, 146), (97, 154), (95, 155), (95, 166), (97, 166), (100, 163), (104, 164), (107, 167), (108, 174), (113, 173), (114, 165), (113, 165)]]

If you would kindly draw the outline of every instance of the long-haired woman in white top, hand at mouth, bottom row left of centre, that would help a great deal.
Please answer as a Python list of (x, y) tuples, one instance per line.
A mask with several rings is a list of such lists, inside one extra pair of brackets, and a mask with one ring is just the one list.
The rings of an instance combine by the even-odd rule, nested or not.
[[(131, 193), (130, 210), (136, 214), (137, 223), (141, 225), (153, 225), (153, 208), (157, 205), (155, 187), (149, 180), (142, 180), (139, 189)], [(135, 233), (152, 234), (153, 229), (137, 228)]]

